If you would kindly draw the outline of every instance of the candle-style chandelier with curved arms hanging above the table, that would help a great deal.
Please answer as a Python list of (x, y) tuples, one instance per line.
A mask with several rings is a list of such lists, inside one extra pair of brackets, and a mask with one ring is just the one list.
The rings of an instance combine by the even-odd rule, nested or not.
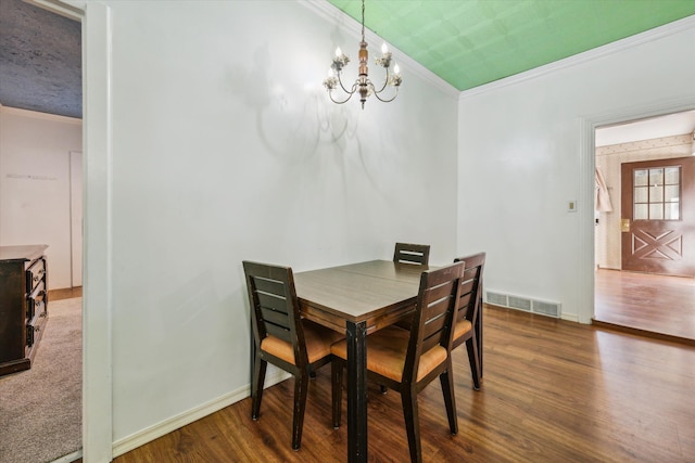
[[(328, 90), (328, 97), (333, 103), (343, 104), (348, 100), (352, 98), (353, 94), (359, 93), (359, 101), (362, 102), (362, 108), (365, 108), (365, 101), (367, 101), (367, 97), (374, 94), (377, 97), (379, 101), (388, 103), (390, 101), (395, 100), (399, 95), (399, 87), (401, 86), (401, 74), (399, 73), (399, 65), (394, 64), (393, 74), (390, 73), (391, 69), (391, 53), (386, 44), (386, 42), (381, 46), (381, 57), (377, 57), (375, 60), (378, 66), (382, 66), (387, 70), (386, 78), (383, 79), (383, 85), (379, 90), (376, 89), (371, 80), (369, 80), (369, 69), (367, 68), (367, 61), (369, 59), (369, 53), (367, 52), (367, 42), (365, 41), (365, 0), (362, 0), (362, 41), (359, 42), (359, 75), (357, 79), (354, 81), (350, 90), (345, 88), (343, 85), (341, 75), (343, 67), (348, 63), (350, 63), (350, 57), (340, 50), (340, 47), (336, 49), (336, 56), (333, 57), (333, 63), (330, 65), (328, 69), (328, 78), (324, 80), (324, 87)], [(340, 88), (345, 93), (344, 100), (337, 100), (333, 95), (333, 90)], [(393, 87), (394, 93), (390, 99), (381, 98), (380, 94), (383, 92), (387, 87)]]

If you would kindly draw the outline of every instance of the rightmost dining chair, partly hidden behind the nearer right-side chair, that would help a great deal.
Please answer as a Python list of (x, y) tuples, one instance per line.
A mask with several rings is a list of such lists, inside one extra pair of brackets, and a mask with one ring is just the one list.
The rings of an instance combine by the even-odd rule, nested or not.
[[(466, 262), (464, 278), (460, 280), (460, 303), (454, 325), (452, 349), (466, 344), (468, 363), (473, 381), (473, 389), (480, 390), (482, 378), (482, 323), (477, 320), (482, 314), (482, 271), (485, 266), (485, 253), (457, 257), (454, 262)], [(480, 332), (477, 332), (479, 326)]]

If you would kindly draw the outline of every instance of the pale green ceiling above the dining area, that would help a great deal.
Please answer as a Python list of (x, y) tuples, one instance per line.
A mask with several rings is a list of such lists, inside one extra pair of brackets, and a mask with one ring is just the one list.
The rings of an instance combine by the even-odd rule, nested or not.
[[(359, 0), (328, 1), (362, 21)], [(365, 26), (463, 91), (693, 14), (695, 0), (367, 0)]]

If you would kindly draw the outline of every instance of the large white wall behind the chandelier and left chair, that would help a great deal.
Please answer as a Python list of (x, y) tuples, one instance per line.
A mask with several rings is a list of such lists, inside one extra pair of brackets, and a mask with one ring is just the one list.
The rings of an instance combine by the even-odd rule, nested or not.
[(111, 375), (123, 442), (248, 387), (242, 259), (301, 271), (396, 241), (453, 259), (457, 94), (401, 62), (395, 102), (328, 102), (332, 50), (358, 37), (298, 2), (103, 3), (87, 5), (85, 240), (106, 300), (86, 283), (85, 301), (111, 344), (86, 349), (112, 349), (88, 381)]

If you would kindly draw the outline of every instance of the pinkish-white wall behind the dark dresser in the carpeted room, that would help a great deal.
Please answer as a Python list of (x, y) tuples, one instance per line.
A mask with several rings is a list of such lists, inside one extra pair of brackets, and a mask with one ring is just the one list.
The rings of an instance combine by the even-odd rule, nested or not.
[(0, 245), (48, 244), (49, 290), (72, 285), (70, 153), (81, 137), (80, 119), (0, 106)]

